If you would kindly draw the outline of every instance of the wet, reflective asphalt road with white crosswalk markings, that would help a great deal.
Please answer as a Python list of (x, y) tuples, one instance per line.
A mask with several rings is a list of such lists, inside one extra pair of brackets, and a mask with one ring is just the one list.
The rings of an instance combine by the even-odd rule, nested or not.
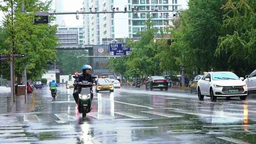
[(35, 90), (31, 112), (0, 114), (0, 143), (256, 144), (256, 97), (200, 101), (184, 91), (95, 93), (85, 119), (73, 89)]

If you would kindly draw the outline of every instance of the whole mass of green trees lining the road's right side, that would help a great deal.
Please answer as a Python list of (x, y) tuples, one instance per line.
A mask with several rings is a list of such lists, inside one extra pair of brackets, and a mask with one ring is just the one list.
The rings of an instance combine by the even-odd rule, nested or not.
[[(190, 0), (189, 9), (166, 28), (171, 46), (151, 19), (146, 27), (139, 42), (129, 43), (136, 50), (122, 66), (130, 76), (180, 73), (181, 66), (191, 76), (211, 70), (244, 76), (255, 69), (256, 0)], [(162, 40), (154, 43), (156, 37)], [(120, 68), (117, 60), (110, 63)]]

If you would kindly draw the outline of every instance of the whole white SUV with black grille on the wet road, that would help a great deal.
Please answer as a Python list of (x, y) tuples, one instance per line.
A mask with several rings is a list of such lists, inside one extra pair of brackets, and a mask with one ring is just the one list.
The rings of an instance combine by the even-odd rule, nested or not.
[(200, 100), (204, 96), (210, 96), (211, 100), (217, 97), (247, 97), (247, 84), (244, 78), (238, 78), (233, 72), (207, 72), (197, 83), (197, 93)]

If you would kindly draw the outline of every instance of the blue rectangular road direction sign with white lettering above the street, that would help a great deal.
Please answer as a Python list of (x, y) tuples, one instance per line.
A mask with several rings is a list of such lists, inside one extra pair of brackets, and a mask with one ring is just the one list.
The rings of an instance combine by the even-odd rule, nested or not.
[(129, 55), (130, 47), (127, 44), (110, 44), (110, 55)]

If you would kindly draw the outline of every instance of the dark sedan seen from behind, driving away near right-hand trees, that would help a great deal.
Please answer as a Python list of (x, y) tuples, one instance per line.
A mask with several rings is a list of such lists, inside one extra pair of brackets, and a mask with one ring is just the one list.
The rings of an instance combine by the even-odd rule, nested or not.
[(148, 89), (168, 90), (168, 82), (163, 76), (152, 76), (146, 81), (146, 90)]

